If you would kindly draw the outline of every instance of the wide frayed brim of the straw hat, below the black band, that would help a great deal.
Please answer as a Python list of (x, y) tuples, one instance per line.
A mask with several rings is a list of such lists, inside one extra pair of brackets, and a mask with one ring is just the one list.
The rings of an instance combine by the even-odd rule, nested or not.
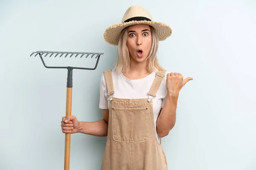
[(165, 23), (154, 21), (130, 21), (127, 23), (119, 23), (108, 27), (104, 33), (104, 39), (111, 45), (118, 45), (120, 34), (125, 27), (135, 24), (148, 24), (156, 30), (159, 41), (166, 40), (172, 34), (172, 28)]

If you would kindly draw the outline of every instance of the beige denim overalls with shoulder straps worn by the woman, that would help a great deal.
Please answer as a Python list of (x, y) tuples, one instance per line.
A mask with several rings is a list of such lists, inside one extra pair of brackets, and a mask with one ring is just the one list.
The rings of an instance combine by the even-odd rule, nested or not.
[[(156, 138), (152, 99), (112, 97), (111, 70), (104, 74), (110, 101), (101, 170), (167, 170), (165, 153)], [(148, 95), (156, 95), (164, 74), (165, 71), (157, 72)]]

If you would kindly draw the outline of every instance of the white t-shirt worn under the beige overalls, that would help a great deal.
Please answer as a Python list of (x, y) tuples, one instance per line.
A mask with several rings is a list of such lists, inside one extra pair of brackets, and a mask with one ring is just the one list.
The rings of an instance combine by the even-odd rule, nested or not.
[[(114, 94), (113, 97), (121, 98), (121, 99), (143, 99), (148, 98), (148, 91), (151, 88), (151, 85), (154, 81), (156, 72), (152, 72), (148, 76), (142, 79), (128, 79), (122, 73), (117, 73), (115, 69), (112, 70), (112, 79), (114, 86)], [(157, 94), (155, 98), (153, 98), (153, 113), (154, 113), (154, 126), (155, 133), (160, 143), (160, 137), (157, 134), (156, 130), (156, 122), (158, 115), (160, 113), (160, 109), (163, 108), (165, 97), (167, 94), (166, 90), (166, 71), (165, 77), (159, 86)], [(109, 99), (108, 99), (108, 91), (105, 82), (104, 73), (102, 74), (100, 80), (100, 97), (99, 97), (99, 108), (101, 109), (109, 109)], [(152, 98), (152, 96), (149, 96)]]

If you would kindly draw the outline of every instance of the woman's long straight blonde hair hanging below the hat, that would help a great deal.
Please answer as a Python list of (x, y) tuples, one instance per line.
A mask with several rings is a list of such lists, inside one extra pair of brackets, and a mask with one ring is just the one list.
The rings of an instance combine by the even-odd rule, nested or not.
[[(118, 57), (115, 65), (117, 72), (128, 72), (130, 67), (130, 54), (126, 46), (128, 27), (124, 28), (121, 32), (121, 36), (118, 43)], [(151, 36), (152, 36), (152, 46), (147, 58), (147, 71), (153, 72), (157, 70), (163, 71), (163, 67), (160, 65), (157, 59), (157, 49), (158, 49), (158, 38), (157, 34), (152, 26), (150, 26)]]

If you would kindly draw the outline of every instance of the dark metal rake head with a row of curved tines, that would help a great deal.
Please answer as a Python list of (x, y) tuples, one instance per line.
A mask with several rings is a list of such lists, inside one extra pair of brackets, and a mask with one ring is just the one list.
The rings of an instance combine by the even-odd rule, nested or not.
[[(71, 68), (71, 69), (95, 70), (95, 69), (97, 68), (100, 55), (102, 55), (102, 54), (104, 54), (104, 53), (92, 53), (92, 52), (64, 52), (64, 51), (35, 51), (35, 52), (32, 52), (32, 54), (30, 54), (30, 57), (31, 57), (33, 54), (35, 54), (35, 57), (39, 54), (39, 57), (41, 58), (41, 60), (42, 60), (42, 62), (43, 62), (43, 64), (44, 64), (44, 67), (46, 67), (46, 68)], [(49, 55), (49, 54), (50, 54), (50, 55)], [(80, 55), (80, 58), (83, 57), (85, 54), (87, 54), (85, 58), (87, 58), (89, 55), (91, 55), (91, 58), (93, 58), (93, 56), (96, 55), (95, 58), (97, 59), (97, 61), (96, 61), (96, 65), (95, 65), (94, 68), (82, 68), (82, 67), (70, 67), (70, 66), (68, 66), (68, 67), (57, 67), (57, 66), (52, 67), (52, 66), (47, 66), (47, 65), (45, 65), (45, 62), (44, 62), (43, 57), (46, 57), (47, 55), (49, 55), (49, 57), (52, 57), (53, 54), (55, 54), (54, 57), (57, 57), (59, 54), (60, 54), (59, 57), (62, 57), (64, 54), (66, 54), (66, 55), (64, 56), (65, 58), (66, 58), (69, 54), (70, 54), (70, 57), (72, 57), (74, 54), (76, 54), (75, 57), (78, 57), (78, 56)]]

